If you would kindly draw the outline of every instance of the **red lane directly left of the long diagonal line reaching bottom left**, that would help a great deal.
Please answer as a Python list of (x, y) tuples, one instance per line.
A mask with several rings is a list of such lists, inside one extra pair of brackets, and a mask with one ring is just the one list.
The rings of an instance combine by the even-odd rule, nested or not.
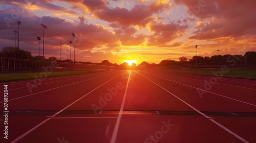
[[(120, 74), (120, 72), (121, 71), (119, 71), (118, 73)], [(112, 76), (117, 75), (118, 73), (112, 74)], [(98, 78), (101, 78), (101, 77), (98, 77)], [(110, 76), (105, 76), (105, 79), (101, 78), (101, 80), (98, 80), (98, 81), (96, 80), (95, 83), (97, 85), (100, 85), (104, 83), (104, 80), (107, 81), (110, 79), (111, 79)], [(90, 82), (87, 84), (90, 85), (92, 83), (93, 82)], [(26, 110), (29, 110), (29, 111), (60, 110), (63, 107), (70, 104), (71, 101), (76, 100), (77, 98), (81, 97), (85, 93), (94, 89), (97, 85), (90, 85), (90, 86), (87, 86), (87, 88), (80, 88), (79, 86), (76, 86), (77, 89), (63, 87), (61, 90), (59, 90), (60, 88), (55, 89), (55, 91), (50, 90), (48, 91), (49, 93), (47, 94), (45, 94), (46, 93), (45, 92), (45, 93), (37, 94), (37, 96), (30, 96), (27, 98), (10, 101), (9, 118), (11, 119), (15, 118), (15, 120), (24, 121), (23, 124), (29, 124), (28, 126), (25, 126), (25, 127), (23, 126), (23, 128), (19, 129), (20, 132), (26, 132), (29, 129), (31, 129), (31, 125), (35, 126), (35, 125), (38, 125), (39, 123), (42, 123), (42, 121), (46, 120), (46, 116), (50, 116), (52, 114), (45, 114), (45, 116), (41, 116), (40, 114), (38, 115), (36, 113), (31, 115), (27, 115), (27, 113), (25, 113), (24, 115), (23, 114), (15, 115), (15, 113), (13, 113), (14, 115), (12, 115), (12, 112), (11, 112), (12, 110), (24, 110), (24, 111)], [(66, 91), (63, 89), (65, 89)], [(76, 92), (74, 93), (73, 91), (76, 91)], [(29, 118), (29, 120), (25, 120), (26, 117)], [(10, 123), (9, 130), (15, 130), (17, 127), (19, 127), (19, 124), (17, 122), (15, 121), (10, 121), (10, 122), (12, 124)], [(10, 140), (15, 139), (18, 135), (20, 135), (19, 134), (20, 132), (15, 132), (13, 134), (10, 134), (9, 136)]]

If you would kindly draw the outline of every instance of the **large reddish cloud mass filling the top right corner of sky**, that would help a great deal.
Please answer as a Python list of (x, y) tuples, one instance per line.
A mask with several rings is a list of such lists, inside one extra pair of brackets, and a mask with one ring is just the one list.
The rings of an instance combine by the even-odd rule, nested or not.
[[(215, 39), (255, 34), (256, 1), (188, 1), (175, 0), (188, 7), (187, 13), (199, 17), (204, 23), (198, 25), (190, 39)], [(253, 32), (254, 31), (254, 32)], [(253, 33), (251, 33), (253, 32)]]

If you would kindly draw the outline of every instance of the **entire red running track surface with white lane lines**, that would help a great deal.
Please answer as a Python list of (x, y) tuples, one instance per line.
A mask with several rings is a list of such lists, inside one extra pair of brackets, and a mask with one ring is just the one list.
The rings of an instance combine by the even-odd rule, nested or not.
[(44, 79), (32, 92), (34, 80), (2, 83), (0, 142), (256, 142), (256, 80), (216, 79), (113, 70)]

